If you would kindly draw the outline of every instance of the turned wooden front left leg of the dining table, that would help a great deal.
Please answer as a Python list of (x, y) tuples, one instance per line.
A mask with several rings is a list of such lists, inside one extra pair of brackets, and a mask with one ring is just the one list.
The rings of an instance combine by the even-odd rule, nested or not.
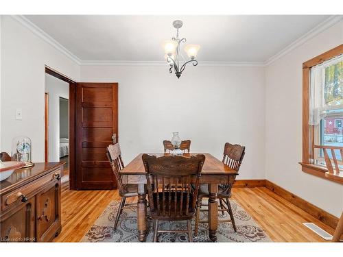
[(138, 185), (137, 209), (138, 239), (141, 242), (145, 242), (147, 230), (147, 200), (145, 195), (145, 184)]

